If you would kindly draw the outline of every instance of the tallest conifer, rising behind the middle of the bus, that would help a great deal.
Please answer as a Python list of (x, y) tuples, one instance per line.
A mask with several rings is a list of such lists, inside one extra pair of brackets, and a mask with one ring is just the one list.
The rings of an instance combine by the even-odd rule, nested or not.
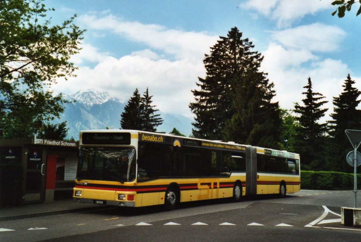
[(222, 130), (235, 113), (234, 80), (239, 80), (247, 68), (256, 70), (263, 58), (252, 51), (254, 45), (248, 38), (242, 39), (237, 27), (231, 28), (227, 37), (219, 38), (210, 54), (205, 54), (206, 77), (198, 78), (200, 90), (192, 90), (195, 102), (189, 105), (195, 114), (193, 135), (213, 140), (222, 139)]

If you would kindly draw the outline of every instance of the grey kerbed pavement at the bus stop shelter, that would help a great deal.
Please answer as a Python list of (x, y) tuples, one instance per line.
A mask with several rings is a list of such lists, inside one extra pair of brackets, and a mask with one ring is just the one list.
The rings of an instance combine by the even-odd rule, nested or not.
[(18, 207), (0, 207), (0, 221), (68, 214), (72, 212), (103, 209), (104, 207), (105, 206), (99, 206), (97, 204), (77, 203), (73, 201), (73, 198), (26, 204)]

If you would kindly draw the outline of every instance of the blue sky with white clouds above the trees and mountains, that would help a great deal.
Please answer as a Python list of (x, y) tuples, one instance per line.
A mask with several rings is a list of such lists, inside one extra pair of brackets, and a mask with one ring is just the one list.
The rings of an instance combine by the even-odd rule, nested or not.
[[(87, 29), (76, 78), (59, 80), (56, 92), (92, 88), (128, 100), (149, 88), (164, 113), (192, 116), (188, 105), (204, 54), (234, 26), (264, 55), (261, 69), (275, 84), (284, 109), (301, 103), (308, 77), (329, 101), (350, 73), (361, 90), (359, 3), (344, 18), (331, 16), (332, 0), (96, 1), (45, 0), (52, 23), (69, 19)], [(326, 117), (325, 120), (329, 118)]]

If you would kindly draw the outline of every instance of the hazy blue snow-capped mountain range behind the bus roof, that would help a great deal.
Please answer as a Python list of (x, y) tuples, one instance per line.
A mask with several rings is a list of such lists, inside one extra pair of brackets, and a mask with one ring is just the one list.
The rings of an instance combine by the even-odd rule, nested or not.
[[(78, 140), (79, 131), (86, 129), (120, 128), (121, 114), (124, 111), (126, 101), (112, 97), (107, 92), (99, 92), (92, 89), (81, 90), (74, 94), (63, 94), (68, 101), (64, 104), (64, 113), (60, 114), (60, 120), (54, 124), (67, 121), (68, 136)], [(157, 127), (158, 132), (169, 133), (173, 128), (186, 136), (192, 133), (193, 120), (183, 115), (165, 114), (159, 112), (163, 123)]]

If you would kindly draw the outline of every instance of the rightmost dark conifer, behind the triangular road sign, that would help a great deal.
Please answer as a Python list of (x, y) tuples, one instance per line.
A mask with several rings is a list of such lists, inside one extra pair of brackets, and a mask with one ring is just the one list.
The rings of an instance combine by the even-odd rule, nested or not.
[(358, 99), (361, 91), (352, 87), (355, 84), (350, 74), (345, 79), (343, 92), (333, 98), (334, 113), (329, 121), (329, 151), (326, 161), (326, 169), (332, 171), (353, 172), (353, 167), (345, 162), (347, 153), (352, 146), (345, 135), (346, 129), (361, 130), (361, 110), (357, 109), (361, 100)]

